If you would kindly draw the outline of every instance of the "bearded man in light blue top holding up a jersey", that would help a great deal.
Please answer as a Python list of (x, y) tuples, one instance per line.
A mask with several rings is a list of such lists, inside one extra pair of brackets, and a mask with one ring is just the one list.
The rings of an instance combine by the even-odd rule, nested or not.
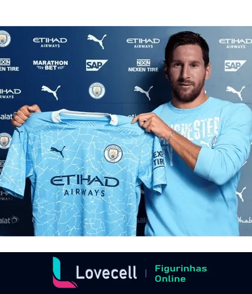
[[(136, 116), (161, 140), (168, 185), (161, 196), (146, 189), (146, 236), (239, 236), (236, 189), (252, 141), (252, 111), (243, 103), (208, 97), (209, 47), (197, 33), (172, 35), (164, 73), (172, 101)], [(37, 105), (23, 106), (12, 124), (21, 126)]]

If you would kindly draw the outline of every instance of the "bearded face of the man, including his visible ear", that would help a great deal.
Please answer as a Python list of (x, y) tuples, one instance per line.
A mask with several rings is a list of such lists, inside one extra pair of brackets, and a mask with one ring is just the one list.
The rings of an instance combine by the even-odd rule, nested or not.
[(191, 102), (203, 91), (205, 79), (210, 76), (210, 65), (204, 65), (198, 45), (181, 45), (173, 51), (168, 78), (175, 98)]

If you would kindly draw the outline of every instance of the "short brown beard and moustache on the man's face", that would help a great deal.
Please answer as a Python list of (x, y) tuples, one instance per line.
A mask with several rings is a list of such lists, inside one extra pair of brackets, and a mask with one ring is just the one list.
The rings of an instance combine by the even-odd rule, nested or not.
[(205, 84), (205, 78), (203, 78), (202, 81), (200, 81), (196, 86), (195, 84), (192, 84), (192, 86), (189, 86), (188, 89), (183, 88), (178, 83), (188, 82), (180, 79), (176, 82), (176, 84), (171, 85), (174, 98), (176, 98), (180, 102), (192, 102), (200, 95)]

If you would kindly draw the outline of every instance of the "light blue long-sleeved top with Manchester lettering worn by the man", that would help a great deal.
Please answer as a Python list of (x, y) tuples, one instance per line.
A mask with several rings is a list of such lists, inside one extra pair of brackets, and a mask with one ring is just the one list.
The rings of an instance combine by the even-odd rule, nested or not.
[(251, 149), (251, 109), (210, 97), (196, 108), (178, 109), (169, 102), (154, 112), (202, 148), (193, 171), (160, 139), (169, 184), (158, 197), (145, 191), (146, 235), (239, 236), (236, 190)]

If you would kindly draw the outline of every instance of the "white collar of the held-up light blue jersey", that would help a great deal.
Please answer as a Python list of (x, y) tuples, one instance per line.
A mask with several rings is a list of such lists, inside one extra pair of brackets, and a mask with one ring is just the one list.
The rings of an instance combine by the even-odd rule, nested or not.
[(53, 111), (52, 112), (52, 121), (54, 123), (61, 123), (62, 120), (60, 118), (60, 114), (66, 114), (66, 115), (72, 115), (72, 116), (82, 116), (82, 117), (106, 117), (110, 116), (110, 125), (117, 126), (118, 125), (118, 117), (115, 114), (109, 114), (109, 113), (101, 113), (101, 112), (80, 112), (80, 111), (71, 111), (67, 109), (61, 109), (58, 111)]

